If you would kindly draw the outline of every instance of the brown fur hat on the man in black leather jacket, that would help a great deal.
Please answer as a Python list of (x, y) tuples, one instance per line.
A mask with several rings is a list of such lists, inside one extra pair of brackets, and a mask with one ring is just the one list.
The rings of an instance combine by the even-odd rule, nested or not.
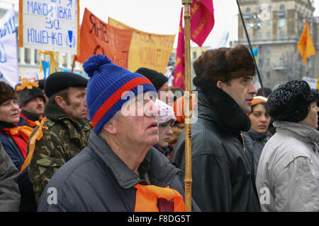
[(232, 78), (254, 76), (256, 73), (252, 54), (243, 45), (207, 50), (193, 66), (196, 76), (214, 84), (219, 80), (229, 81)]

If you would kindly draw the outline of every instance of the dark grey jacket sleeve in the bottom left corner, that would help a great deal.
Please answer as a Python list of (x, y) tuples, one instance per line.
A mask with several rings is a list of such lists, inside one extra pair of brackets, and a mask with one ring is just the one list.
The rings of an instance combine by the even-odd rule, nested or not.
[(19, 210), (21, 196), (18, 176), (18, 169), (0, 142), (0, 212)]

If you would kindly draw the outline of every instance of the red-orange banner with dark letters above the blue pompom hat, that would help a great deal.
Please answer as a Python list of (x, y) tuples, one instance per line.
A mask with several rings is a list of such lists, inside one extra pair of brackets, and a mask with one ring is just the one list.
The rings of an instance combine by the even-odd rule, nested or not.
[(85, 8), (81, 25), (80, 53), (75, 59), (84, 63), (96, 54), (107, 55), (118, 66), (128, 69), (128, 52), (133, 29), (106, 24)]

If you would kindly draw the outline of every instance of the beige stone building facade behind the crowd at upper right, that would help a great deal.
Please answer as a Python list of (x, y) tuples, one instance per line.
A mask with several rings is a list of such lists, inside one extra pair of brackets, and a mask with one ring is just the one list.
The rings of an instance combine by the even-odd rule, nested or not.
[[(258, 49), (257, 65), (264, 87), (303, 79), (319, 78), (319, 18), (313, 17), (310, 0), (240, 0), (240, 8), (252, 49)], [(297, 44), (308, 21), (316, 54), (301, 59)], [(238, 16), (238, 41), (248, 46), (247, 36)]]

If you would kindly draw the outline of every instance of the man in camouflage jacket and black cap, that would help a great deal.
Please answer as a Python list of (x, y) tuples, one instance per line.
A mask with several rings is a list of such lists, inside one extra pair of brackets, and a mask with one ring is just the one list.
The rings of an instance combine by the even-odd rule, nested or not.
[[(74, 73), (52, 73), (45, 81), (45, 105), (43, 137), (36, 141), (29, 166), (38, 203), (47, 182), (65, 162), (77, 155), (87, 145), (91, 125), (87, 122), (87, 79)], [(35, 127), (35, 131), (39, 126)], [(29, 147), (28, 147), (29, 148)]]

